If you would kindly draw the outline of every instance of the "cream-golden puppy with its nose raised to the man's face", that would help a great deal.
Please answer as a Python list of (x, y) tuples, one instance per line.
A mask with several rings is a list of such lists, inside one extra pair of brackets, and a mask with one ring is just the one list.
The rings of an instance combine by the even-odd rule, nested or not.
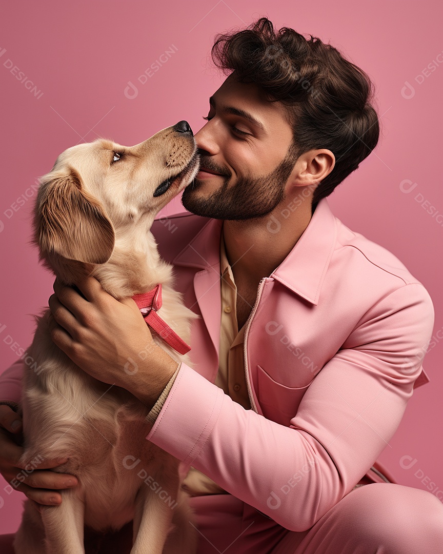
[[(92, 275), (116, 299), (161, 285), (157, 315), (189, 342), (197, 316), (173, 290), (172, 266), (159, 258), (150, 228), (198, 166), (186, 121), (132, 147), (98, 139), (68, 148), (40, 179), (33, 239), (40, 260), (62, 283)], [(67, 457), (54, 471), (74, 474), (79, 484), (61, 491), (60, 506), (39, 512), (25, 501), (16, 553), (83, 554), (85, 526), (116, 531), (133, 520), (131, 554), (192, 554), (196, 535), (180, 486), (183, 468), (146, 440), (148, 409), (125, 389), (110, 388), (76, 366), (51, 340), (48, 315), (49, 309), (37, 317), (29, 350), (35, 363), (24, 373), (20, 466)], [(174, 360), (190, 363), (167, 337), (152, 336)], [(146, 484), (146, 475), (158, 486)], [(159, 487), (166, 493), (159, 494)]]

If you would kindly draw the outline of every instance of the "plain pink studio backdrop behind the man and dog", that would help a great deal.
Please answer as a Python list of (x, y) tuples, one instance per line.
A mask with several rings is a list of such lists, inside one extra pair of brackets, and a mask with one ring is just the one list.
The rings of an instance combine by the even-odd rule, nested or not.
[[(29, 314), (39, 312), (52, 292), (53, 279), (28, 244), (35, 179), (77, 142), (104, 136), (132, 145), (182, 119), (197, 131), (208, 97), (221, 83), (208, 62), (214, 35), (257, 16), (331, 42), (375, 82), (381, 143), (329, 203), (348, 227), (391, 250), (426, 286), (434, 299), (434, 334), (443, 337), (442, 12), (436, 0), (5, 3), (0, 328), (6, 328), (0, 334), (0, 371), (17, 359), (5, 337), (27, 347), (33, 333)], [(142, 84), (138, 77), (146, 69), (150, 75)], [(127, 98), (133, 89), (125, 95), (128, 81), (138, 88), (135, 98)], [(34, 85), (34, 91), (26, 88)], [(432, 217), (429, 206), (439, 214)], [(166, 208), (179, 211), (179, 202)], [(431, 383), (415, 391), (380, 460), (400, 483), (425, 489), (432, 481), (441, 497), (443, 341), (437, 340), (425, 359)], [(416, 459), (413, 468), (401, 467), (405, 455)], [(23, 495), (8, 495), (4, 486), (0, 479), (0, 532), (11, 532), (19, 524)]]

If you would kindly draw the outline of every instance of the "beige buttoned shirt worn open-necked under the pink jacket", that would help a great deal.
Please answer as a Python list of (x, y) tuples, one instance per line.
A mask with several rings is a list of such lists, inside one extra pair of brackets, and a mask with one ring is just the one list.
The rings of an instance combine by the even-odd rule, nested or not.
[[(251, 408), (246, 387), (243, 337), (245, 326), (240, 331), (237, 325), (237, 288), (226, 258), (225, 245), (220, 240), (220, 279), (222, 288), (222, 321), (220, 327), (219, 370), (215, 384), (222, 388), (235, 402), (246, 409)], [(217, 483), (195, 468), (191, 468), (183, 486), (193, 496), (226, 493)]]

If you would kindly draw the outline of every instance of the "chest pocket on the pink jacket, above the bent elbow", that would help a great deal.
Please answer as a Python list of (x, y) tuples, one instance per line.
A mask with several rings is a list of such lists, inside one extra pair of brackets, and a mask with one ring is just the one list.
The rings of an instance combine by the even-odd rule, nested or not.
[(264, 416), (282, 425), (289, 425), (312, 380), (303, 387), (286, 387), (274, 381), (257, 365), (257, 397)]

